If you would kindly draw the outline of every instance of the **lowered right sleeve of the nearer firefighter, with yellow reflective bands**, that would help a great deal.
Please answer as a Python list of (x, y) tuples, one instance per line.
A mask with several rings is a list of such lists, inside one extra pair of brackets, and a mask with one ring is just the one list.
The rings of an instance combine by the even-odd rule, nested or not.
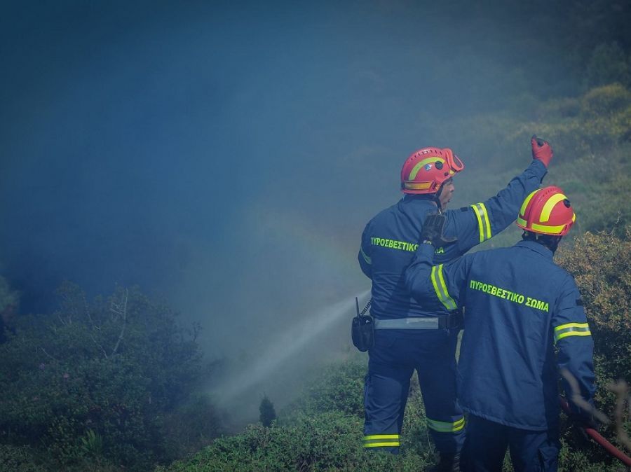
[[(584, 412), (580, 403), (592, 403), (594, 396), (594, 342), (585, 318), (581, 294), (574, 279), (567, 276), (561, 296), (552, 314), (552, 335), (557, 347), (559, 372), (569, 374), (576, 382), (568, 382), (563, 375), (562, 385), (572, 410)], [(572, 384), (575, 384), (574, 387)]]

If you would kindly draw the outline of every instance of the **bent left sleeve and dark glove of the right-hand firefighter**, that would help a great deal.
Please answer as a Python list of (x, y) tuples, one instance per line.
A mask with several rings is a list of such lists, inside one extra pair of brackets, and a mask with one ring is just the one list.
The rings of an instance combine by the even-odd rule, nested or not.
[(419, 244), (412, 263), (405, 270), (405, 284), (412, 296), (428, 311), (440, 314), (456, 310), (474, 254), (448, 264), (432, 265), (434, 247)]

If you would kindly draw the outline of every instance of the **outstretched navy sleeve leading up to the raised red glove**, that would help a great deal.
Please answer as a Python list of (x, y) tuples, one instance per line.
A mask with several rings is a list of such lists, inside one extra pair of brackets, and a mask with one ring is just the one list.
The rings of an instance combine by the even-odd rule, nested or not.
[(446, 212), (445, 235), (456, 236), (460, 254), (466, 253), (476, 244), (491, 239), (505, 230), (517, 219), (526, 197), (539, 188), (547, 169), (538, 160), (533, 160), (527, 169), (514, 177), (494, 197)]

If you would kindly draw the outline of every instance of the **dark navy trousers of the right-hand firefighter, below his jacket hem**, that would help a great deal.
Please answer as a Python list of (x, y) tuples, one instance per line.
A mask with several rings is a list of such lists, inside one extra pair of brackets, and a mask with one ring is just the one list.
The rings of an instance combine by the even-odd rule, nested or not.
[(515, 472), (556, 472), (560, 443), (557, 431), (512, 428), (468, 415), (461, 457), (463, 472), (501, 472), (506, 448)]

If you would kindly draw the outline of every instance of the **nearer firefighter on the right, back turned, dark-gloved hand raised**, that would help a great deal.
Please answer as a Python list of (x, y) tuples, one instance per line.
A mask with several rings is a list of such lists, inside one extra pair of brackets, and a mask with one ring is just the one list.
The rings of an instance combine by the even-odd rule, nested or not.
[(469, 414), (461, 461), (467, 472), (501, 471), (507, 447), (517, 472), (557, 470), (559, 370), (578, 384), (571, 391), (563, 382), (574, 414), (593, 425), (590, 328), (574, 278), (552, 261), (576, 215), (554, 186), (530, 193), (518, 214), (524, 233), (515, 246), (444, 265), (432, 265), (443, 217), (430, 216), (405, 272), (423, 306), (465, 308), (458, 398)]

